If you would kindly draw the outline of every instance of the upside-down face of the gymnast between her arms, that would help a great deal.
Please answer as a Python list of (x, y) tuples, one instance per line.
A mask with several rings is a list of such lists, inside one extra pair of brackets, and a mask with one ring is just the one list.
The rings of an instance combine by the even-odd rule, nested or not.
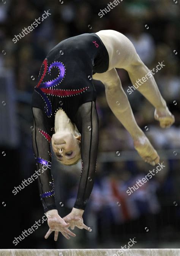
[(81, 136), (75, 137), (71, 132), (56, 132), (52, 135), (52, 149), (58, 161), (72, 165), (81, 158)]

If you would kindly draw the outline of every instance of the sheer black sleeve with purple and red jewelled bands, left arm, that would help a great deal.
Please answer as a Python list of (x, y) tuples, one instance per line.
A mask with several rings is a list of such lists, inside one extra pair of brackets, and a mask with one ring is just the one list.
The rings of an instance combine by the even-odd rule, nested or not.
[(36, 174), (38, 175), (38, 186), (40, 198), (43, 203), (44, 212), (56, 209), (54, 196), (54, 182), (51, 174), (51, 137), (52, 127), (49, 125), (43, 111), (32, 108), (33, 131), (32, 145), (36, 161)]

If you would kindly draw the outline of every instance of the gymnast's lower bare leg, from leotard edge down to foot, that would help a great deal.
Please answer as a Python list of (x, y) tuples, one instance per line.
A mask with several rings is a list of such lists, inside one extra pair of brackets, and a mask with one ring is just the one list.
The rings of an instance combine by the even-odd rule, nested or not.
[(144, 132), (137, 125), (128, 97), (122, 88), (115, 68), (103, 74), (96, 74), (93, 78), (104, 83), (107, 103), (117, 119), (133, 138), (134, 147), (139, 155), (149, 164), (158, 164), (159, 156)]

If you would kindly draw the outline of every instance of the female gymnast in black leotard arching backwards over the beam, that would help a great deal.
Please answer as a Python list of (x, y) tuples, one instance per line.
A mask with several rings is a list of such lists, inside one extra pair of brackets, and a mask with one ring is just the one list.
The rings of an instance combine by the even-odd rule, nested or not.
[[(40, 198), (49, 225), (45, 238), (55, 231), (54, 240), (57, 240), (58, 232), (70, 239), (69, 235), (76, 235), (68, 228), (74, 229), (75, 226), (91, 231), (84, 224), (82, 215), (92, 192), (98, 151), (98, 114), (93, 79), (103, 82), (109, 107), (128, 130), (142, 159), (152, 165), (159, 162), (156, 150), (134, 119), (115, 68), (127, 70), (133, 84), (150, 72), (131, 41), (114, 30), (85, 33), (63, 40), (43, 61), (32, 97), (32, 143), (37, 170), (46, 165), (46, 170), (43, 169), (38, 177)], [(170, 127), (174, 116), (168, 110), (153, 75), (137, 90), (155, 107), (155, 119), (160, 126)], [(82, 161), (77, 199), (71, 213), (64, 218), (58, 215), (55, 205), (51, 138), (52, 149), (62, 164)]]

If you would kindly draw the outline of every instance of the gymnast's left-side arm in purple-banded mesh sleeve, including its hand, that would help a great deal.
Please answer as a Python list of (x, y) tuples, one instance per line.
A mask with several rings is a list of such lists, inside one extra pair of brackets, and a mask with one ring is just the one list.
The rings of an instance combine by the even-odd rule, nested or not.
[(60, 231), (69, 239), (68, 234), (72, 236), (75, 236), (75, 234), (68, 229), (69, 224), (58, 215), (55, 204), (54, 182), (51, 175), (51, 126), (49, 126), (49, 120), (46, 119), (42, 110), (33, 107), (32, 111), (32, 144), (37, 167), (36, 174), (38, 175), (40, 198), (47, 216), (47, 223), (50, 227), (45, 238), (55, 231), (54, 240), (57, 240), (58, 231)]

